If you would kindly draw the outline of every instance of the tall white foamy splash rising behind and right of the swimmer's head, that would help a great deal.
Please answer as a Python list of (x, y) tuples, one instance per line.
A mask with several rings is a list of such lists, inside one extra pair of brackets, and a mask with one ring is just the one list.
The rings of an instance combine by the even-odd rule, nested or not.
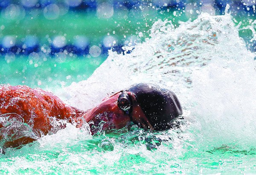
[(176, 28), (158, 20), (151, 38), (131, 54), (110, 52), (90, 78), (67, 87), (68, 102), (89, 109), (133, 83), (158, 83), (177, 94), (191, 120), (183, 128), (185, 143), (203, 139), (203, 146), (250, 145), (256, 134), (254, 57), (229, 14), (202, 13)]

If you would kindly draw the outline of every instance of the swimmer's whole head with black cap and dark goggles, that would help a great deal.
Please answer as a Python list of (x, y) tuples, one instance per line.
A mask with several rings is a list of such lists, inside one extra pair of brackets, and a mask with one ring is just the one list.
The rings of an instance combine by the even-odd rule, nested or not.
[(151, 130), (166, 130), (179, 115), (182, 109), (173, 92), (151, 83), (140, 83), (105, 98), (87, 112), (85, 119), (94, 134), (100, 128), (121, 129), (131, 122)]

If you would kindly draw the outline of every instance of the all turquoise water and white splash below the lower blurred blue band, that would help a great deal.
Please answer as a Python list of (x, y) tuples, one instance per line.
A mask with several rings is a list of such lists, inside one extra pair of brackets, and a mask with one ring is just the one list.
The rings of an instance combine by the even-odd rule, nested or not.
[[(158, 20), (151, 26), (151, 37), (134, 46), (131, 54), (109, 52), (104, 62), (103, 58), (58, 61), (42, 57), (32, 62), (15, 58), (19, 64), (1, 60), (5, 66), (1, 83), (24, 81), (32, 87), (48, 88), (79, 109), (89, 109), (106, 95), (143, 81), (172, 89), (184, 114), (176, 121), (179, 128), (165, 132), (133, 126), (130, 131), (91, 136), (87, 124), (81, 129), (67, 124), (67, 128), (20, 149), (3, 150), (0, 171), (255, 174), (255, 53), (239, 36), (243, 30), (250, 28), (239, 26), (229, 14), (202, 13), (179, 26)], [(11, 71), (12, 76), (4, 77), (13, 66), (18, 73)], [(24, 66), (32, 71), (26, 72)]]

